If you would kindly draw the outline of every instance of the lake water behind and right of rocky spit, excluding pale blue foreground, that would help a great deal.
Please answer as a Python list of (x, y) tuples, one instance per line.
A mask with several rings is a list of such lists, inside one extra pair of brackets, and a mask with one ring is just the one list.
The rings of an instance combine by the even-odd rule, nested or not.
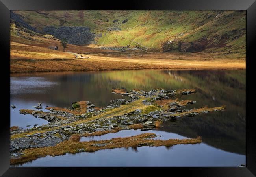
[(27, 121), (18, 112), (21, 108), (32, 109), (38, 102), (44, 107), (70, 107), (73, 101), (87, 100), (105, 107), (113, 99), (124, 98), (112, 94), (112, 88), (196, 89), (196, 94), (180, 98), (197, 101), (188, 108), (226, 105), (226, 111), (166, 122), (161, 131), (189, 138), (202, 136), (203, 142), (210, 146), (245, 155), (245, 73), (245, 70), (129, 70), (13, 74), (10, 105), (17, 108), (10, 110), (11, 126), (32, 124), (30, 118)]

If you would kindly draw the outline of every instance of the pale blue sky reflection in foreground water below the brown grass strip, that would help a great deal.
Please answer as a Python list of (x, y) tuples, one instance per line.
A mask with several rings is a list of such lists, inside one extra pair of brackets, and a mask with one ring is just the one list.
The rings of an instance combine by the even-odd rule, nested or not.
[(171, 148), (137, 147), (104, 149), (94, 153), (46, 156), (17, 167), (172, 166), (237, 167), (245, 156), (215, 149), (207, 144), (179, 144)]

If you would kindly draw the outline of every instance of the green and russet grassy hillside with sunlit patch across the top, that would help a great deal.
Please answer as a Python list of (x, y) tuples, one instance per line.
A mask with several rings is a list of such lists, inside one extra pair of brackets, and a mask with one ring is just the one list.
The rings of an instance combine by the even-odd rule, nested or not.
[[(95, 33), (97, 46), (130, 45), (164, 52), (204, 50), (245, 57), (246, 11), (13, 12), (41, 33), (46, 26), (87, 26)], [(116, 19), (118, 21), (113, 23)], [(128, 21), (122, 23), (125, 19)]]

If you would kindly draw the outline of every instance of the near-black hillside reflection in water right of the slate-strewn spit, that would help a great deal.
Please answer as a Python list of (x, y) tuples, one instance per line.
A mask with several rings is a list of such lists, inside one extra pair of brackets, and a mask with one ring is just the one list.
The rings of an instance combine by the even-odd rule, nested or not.
[(165, 122), (161, 130), (189, 138), (202, 136), (202, 141), (224, 151), (245, 155), (245, 120), (229, 116), (230, 111), (211, 112), (195, 117)]

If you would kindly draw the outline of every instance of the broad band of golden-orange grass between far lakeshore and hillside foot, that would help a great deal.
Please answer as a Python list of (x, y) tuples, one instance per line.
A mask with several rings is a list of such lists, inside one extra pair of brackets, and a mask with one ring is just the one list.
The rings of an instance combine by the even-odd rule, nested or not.
[[(45, 44), (22, 46), (11, 42), (10, 72), (92, 71), (133, 69), (226, 70), (245, 69), (245, 59), (215, 59), (208, 53), (122, 53), (70, 45), (70, 52), (89, 59), (47, 49)], [(39, 48), (39, 49), (37, 49)], [(38, 51), (38, 52), (35, 52)], [(53, 52), (53, 53), (52, 53)]]

